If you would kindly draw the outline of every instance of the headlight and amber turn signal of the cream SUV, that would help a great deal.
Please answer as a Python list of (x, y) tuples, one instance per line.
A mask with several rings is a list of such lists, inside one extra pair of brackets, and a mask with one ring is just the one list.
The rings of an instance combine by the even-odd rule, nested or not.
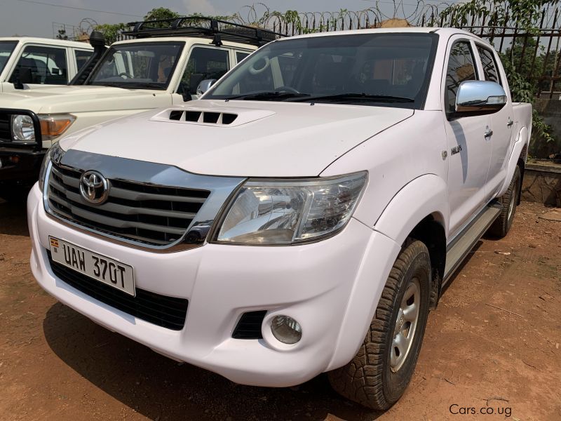
[[(76, 117), (72, 114), (39, 114), (42, 140), (53, 140), (67, 131)], [(26, 114), (12, 116), (12, 138), (14, 142), (35, 142), (33, 119)]]

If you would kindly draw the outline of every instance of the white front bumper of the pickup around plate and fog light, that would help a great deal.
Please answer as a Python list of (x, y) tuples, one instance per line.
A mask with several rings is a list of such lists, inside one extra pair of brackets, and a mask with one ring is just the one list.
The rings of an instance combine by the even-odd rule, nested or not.
[[(206, 244), (150, 253), (62, 225), (45, 213), (37, 185), (27, 206), (32, 272), (48, 293), (156, 352), (245, 385), (297, 385), (350, 361), (399, 250), (393, 240), (352, 219), (337, 236), (302, 246)], [(132, 265), (137, 288), (187, 298), (184, 328), (136, 319), (58, 279), (48, 263), (49, 235)], [(241, 314), (255, 310), (267, 311), (264, 339), (231, 338)], [(299, 321), (302, 340), (290, 346), (276, 341), (269, 328), (276, 314)]]

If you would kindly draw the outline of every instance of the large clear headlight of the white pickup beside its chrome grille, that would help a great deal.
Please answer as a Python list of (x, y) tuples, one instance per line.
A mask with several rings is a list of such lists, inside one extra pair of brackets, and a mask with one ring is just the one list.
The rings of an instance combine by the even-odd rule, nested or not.
[(217, 241), (291, 244), (342, 229), (366, 185), (367, 173), (337, 178), (248, 181), (220, 226)]

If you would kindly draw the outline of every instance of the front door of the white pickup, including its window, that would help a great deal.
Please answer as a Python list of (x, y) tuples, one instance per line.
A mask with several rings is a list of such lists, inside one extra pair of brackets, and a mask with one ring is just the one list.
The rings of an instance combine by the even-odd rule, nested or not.
[(442, 109), (448, 142), (443, 152), (448, 161), (450, 238), (470, 222), (485, 203), (485, 182), (489, 171), (491, 140), (489, 116), (454, 117), (458, 86), (478, 80), (475, 44), (466, 36), (451, 37), (442, 80)]

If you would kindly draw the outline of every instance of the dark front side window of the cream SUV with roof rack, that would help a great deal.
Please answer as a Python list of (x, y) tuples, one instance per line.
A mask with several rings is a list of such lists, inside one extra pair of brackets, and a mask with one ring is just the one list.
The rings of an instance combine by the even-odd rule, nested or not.
[(205, 79), (219, 79), (229, 69), (228, 51), (195, 47), (177, 88), (177, 93), (195, 93)]

